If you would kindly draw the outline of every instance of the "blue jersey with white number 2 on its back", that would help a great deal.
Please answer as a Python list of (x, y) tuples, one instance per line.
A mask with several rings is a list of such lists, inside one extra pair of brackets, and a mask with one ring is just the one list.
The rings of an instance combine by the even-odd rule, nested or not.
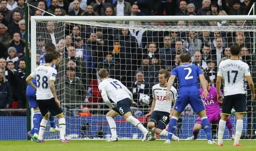
[(179, 81), (178, 94), (183, 92), (198, 92), (197, 78), (200, 74), (203, 74), (201, 69), (190, 63), (184, 63), (172, 70), (172, 75), (176, 75)]

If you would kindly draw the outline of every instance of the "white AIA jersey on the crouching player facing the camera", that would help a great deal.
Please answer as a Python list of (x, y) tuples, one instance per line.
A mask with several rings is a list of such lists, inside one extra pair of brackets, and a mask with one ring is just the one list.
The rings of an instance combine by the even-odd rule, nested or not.
[(172, 86), (170, 90), (171, 98), (166, 100), (167, 86), (162, 87), (156, 84), (152, 87), (153, 97), (156, 98), (154, 111), (162, 111), (171, 113), (172, 101), (177, 98), (177, 90)]

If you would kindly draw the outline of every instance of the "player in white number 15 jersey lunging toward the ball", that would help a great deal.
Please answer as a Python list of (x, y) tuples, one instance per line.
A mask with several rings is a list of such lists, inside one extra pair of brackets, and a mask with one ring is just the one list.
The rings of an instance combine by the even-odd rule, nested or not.
[[(133, 101), (132, 92), (130, 92), (126, 86), (124, 86), (119, 80), (108, 78), (108, 72), (106, 69), (99, 70), (99, 77), (101, 83), (99, 84), (99, 90), (101, 92), (101, 97), (104, 102), (107, 104), (111, 110), (106, 114), (106, 119), (108, 125), (110, 125), (111, 138), (107, 142), (118, 141), (117, 132), (116, 132), (116, 123), (113, 118), (118, 114), (122, 115), (126, 121), (132, 123), (140, 131), (143, 132), (143, 140), (148, 140), (151, 132), (149, 132), (138, 119), (135, 119), (130, 113), (130, 106), (136, 105)], [(113, 107), (108, 97), (111, 98), (113, 102), (117, 104), (116, 107)]]

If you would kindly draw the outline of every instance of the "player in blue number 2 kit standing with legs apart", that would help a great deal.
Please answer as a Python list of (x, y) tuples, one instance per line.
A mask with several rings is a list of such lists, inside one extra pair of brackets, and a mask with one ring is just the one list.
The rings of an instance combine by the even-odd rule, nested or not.
[(170, 99), (170, 89), (176, 77), (178, 77), (179, 90), (178, 97), (175, 102), (175, 105), (172, 109), (172, 118), (168, 126), (168, 136), (165, 144), (171, 143), (171, 138), (173, 133), (176, 130), (177, 120), (179, 115), (184, 111), (184, 108), (189, 103), (194, 112), (198, 113), (199, 117), (202, 120), (202, 126), (206, 133), (206, 137), (209, 144), (215, 144), (213, 138), (211, 138), (211, 124), (205, 113), (205, 107), (201, 101), (201, 97), (198, 90), (197, 78), (199, 77), (200, 83), (203, 87), (202, 95), (204, 97), (208, 96), (208, 91), (206, 88), (206, 81), (204, 74), (201, 69), (194, 65), (190, 64), (190, 55), (188, 53), (182, 53), (179, 58), (181, 59), (181, 65), (172, 70), (171, 77), (168, 80), (166, 99)]

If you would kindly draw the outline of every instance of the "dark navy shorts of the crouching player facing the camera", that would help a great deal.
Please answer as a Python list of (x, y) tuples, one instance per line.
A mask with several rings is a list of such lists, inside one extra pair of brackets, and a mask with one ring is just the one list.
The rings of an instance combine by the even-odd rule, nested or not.
[(164, 130), (166, 125), (169, 123), (170, 113), (168, 112), (162, 112), (162, 111), (153, 111), (149, 121), (152, 121), (155, 123), (157, 129)]

